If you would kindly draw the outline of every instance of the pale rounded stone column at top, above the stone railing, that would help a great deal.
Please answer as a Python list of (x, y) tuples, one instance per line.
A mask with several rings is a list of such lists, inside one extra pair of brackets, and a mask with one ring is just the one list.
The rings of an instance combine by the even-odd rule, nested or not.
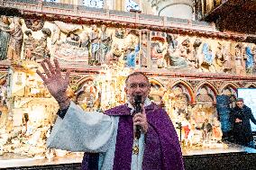
[(193, 18), (193, 0), (150, 0), (160, 16), (188, 19)]

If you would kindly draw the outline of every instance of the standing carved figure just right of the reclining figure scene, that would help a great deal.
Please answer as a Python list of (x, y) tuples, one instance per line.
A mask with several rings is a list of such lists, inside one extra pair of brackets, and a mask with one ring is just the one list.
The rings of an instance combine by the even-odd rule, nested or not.
[(91, 29), (92, 31), (89, 34), (91, 43), (91, 59), (92, 62), (97, 64), (99, 62), (99, 32), (96, 28), (96, 24), (93, 24)]

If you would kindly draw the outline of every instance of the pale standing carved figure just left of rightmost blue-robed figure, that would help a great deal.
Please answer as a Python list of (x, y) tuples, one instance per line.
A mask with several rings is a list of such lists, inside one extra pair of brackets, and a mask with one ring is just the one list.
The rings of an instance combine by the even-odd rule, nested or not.
[(236, 74), (244, 74), (244, 62), (243, 62), (243, 54), (242, 54), (242, 43), (238, 43), (235, 46), (235, 54), (234, 54), (234, 59), (235, 59), (235, 73)]

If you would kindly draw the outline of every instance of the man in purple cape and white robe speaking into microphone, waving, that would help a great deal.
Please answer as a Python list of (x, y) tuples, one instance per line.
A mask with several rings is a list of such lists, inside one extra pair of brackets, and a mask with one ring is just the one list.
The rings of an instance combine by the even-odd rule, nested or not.
[[(59, 103), (59, 115), (49, 148), (83, 151), (83, 170), (183, 170), (178, 136), (167, 112), (152, 103), (150, 83), (142, 72), (125, 80), (127, 103), (105, 112), (85, 113), (71, 102), (66, 90), (69, 71), (61, 76), (49, 59), (41, 62), (41, 76), (50, 94)], [(48, 67), (46, 67), (46, 64)]]

